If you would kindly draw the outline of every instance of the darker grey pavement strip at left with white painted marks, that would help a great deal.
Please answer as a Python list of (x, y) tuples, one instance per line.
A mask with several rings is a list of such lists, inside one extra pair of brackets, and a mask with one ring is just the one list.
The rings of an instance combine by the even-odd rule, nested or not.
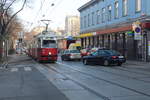
[(11, 55), (0, 69), (0, 100), (68, 100), (25, 55)]

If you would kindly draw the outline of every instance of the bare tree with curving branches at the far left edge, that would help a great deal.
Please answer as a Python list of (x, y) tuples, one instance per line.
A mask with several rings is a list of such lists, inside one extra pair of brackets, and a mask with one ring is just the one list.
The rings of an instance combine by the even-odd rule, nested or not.
[[(12, 12), (12, 6), (20, 1), (22, 1), (21, 7), (17, 11)], [(6, 51), (4, 53), (4, 57), (7, 57), (7, 43), (9, 42), (7, 40), (10, 40), (12, 36), (17, 36), (15, 31), (13, 30), (16, 25), (19, 25), (15, 24), (17, 22), (15, 18), (17, 14), (24, 9), (26, 2), (27, 0), (0, 0), (0, 51)], [(5, 47), (3, 45), (4, 42), (6, 42)], [(0, 52), (0, 58), (2, 57), (2, 55), (2, 52)]]

